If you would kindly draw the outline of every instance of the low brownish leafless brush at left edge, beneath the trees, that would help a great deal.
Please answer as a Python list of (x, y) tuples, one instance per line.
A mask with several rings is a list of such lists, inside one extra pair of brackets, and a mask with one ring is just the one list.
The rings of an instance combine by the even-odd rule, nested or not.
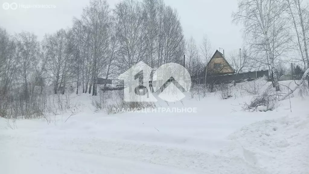
[(34, 86), (28, 97), (23, 88), (14, 87), (7, 93), (0, 94), (0, 117), (8, 119), (43, 118), (54, 112), (80, 111), (80, 102), (73, 100), (75, 94), (54, 94), (50, 86)]

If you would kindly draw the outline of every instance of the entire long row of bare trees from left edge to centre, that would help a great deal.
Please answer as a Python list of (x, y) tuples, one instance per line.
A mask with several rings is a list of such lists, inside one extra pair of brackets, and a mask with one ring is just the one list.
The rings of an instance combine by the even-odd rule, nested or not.
[(0, 116), (9, 112), (8, 103), (30, 103), (43, 89), (95, 96), (98, 78), (116, 79), (139, 61), (180, 63), (184, 48), (178, 13), (163, 0), (121, 0), (114, 9), (106, 0), (91, 0), (72, 28), (42, 41), (0, 28)]

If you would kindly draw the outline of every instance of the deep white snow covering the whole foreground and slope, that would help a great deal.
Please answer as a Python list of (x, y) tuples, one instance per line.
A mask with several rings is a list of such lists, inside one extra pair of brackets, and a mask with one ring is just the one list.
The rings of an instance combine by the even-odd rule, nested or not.
[(188, 93), (183, 102), (157, 104), (194, 113), (107, 115), (83, 94), (76, 97), (83, 112), (69, 119), (0, 119), (0, 173), (308, 174), (308, 98), (296, 94), (274, 111), (246, 112), (241, 105), (250, 96), (235, 91), (227, 100)]

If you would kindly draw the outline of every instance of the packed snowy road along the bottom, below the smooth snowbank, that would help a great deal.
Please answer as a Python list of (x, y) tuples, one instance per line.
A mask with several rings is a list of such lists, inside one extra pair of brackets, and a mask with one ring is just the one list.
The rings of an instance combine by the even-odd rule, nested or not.
[(1, 150), (1, 156), (8, 157), (2, 163), (4, 173), (33, 173), (33, 169), (39, 173), (40, 168), (51, 173), (237, 173), (246, 169), (241, 157), (211, 151), (99, 138), (1, 137), (5, 138), (9, 142)]

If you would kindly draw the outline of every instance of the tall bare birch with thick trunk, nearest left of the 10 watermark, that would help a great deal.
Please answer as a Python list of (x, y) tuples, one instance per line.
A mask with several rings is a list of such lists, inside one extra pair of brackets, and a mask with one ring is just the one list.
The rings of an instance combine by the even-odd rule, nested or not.
[[(90, 6), (83, 11), (82, 21), (89, 32), (91, 55), (90, 80), (92, 95), (97, 95), (97, 79), (108, 64), (110, 10), (105, 0), (91, 0)], [(89, 88), (89, 94), (91, 87)]]

